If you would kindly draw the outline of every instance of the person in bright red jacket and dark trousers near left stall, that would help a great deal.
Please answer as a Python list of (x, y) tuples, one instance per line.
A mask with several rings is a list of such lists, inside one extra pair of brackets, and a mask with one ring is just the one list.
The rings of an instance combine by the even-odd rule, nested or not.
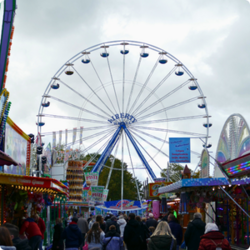
[(35, 222), (34, 218), (27, 218), (20, 230), (20, 235), (27, 235), (31, 250), (37, 250), (42, 240), (42, 233)]

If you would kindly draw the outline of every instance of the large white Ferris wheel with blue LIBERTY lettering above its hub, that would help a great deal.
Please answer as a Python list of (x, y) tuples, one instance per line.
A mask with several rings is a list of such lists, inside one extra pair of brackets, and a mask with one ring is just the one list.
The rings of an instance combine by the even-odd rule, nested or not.
[(137, 41), (105, 42), (80, 51), (55, 73), (37, 129), (46, 135), (83, 127), (82, 138), (67, 145), (84, 144), (82, 153), (92, 154), (88, 163), (96, 162), (92, 171), (100, 172), (113, 157), (121, 159), (121, 170), (154, 180), (167, 166), (170, 137), (191, 138), (194, 161), (201, 147), (211, 147), (205, 98), (193, 74), (166, 50)]

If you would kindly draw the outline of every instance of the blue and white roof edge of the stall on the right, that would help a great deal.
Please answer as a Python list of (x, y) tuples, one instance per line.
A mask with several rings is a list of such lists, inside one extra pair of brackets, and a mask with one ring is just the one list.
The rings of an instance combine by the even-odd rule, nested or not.
[(199, 179), (183, 179), (171, 185), (158, 189), (159, 194), (183, 192), (186, 189), (195, 189), (197, 187), (226, 186), (226, 185), (247, 185), (250, 184), (250, 178), (232, 179), (231, 182), (226, 178), (199, 178)]

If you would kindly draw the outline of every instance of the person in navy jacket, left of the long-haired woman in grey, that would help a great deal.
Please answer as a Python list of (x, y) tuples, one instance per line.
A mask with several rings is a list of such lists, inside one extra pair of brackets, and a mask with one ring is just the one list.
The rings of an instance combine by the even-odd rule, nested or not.
[(82, 244), (82, 233), (77, 226), (77, 221), (78, 219), (73, 217), (72, 222), (63, 231), (62, 238), (66, 240), (66, 250), (67, 248), (78, 250)]

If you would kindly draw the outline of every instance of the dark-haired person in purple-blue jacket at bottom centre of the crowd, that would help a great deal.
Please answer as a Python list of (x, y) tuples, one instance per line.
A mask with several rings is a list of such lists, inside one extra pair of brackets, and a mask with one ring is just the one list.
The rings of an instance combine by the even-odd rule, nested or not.
[(105, 234), (103, 248), (106, 250), (124, 250), (123, 239), (116, 232), (115, 225), (111, 225), (109, 231)]

